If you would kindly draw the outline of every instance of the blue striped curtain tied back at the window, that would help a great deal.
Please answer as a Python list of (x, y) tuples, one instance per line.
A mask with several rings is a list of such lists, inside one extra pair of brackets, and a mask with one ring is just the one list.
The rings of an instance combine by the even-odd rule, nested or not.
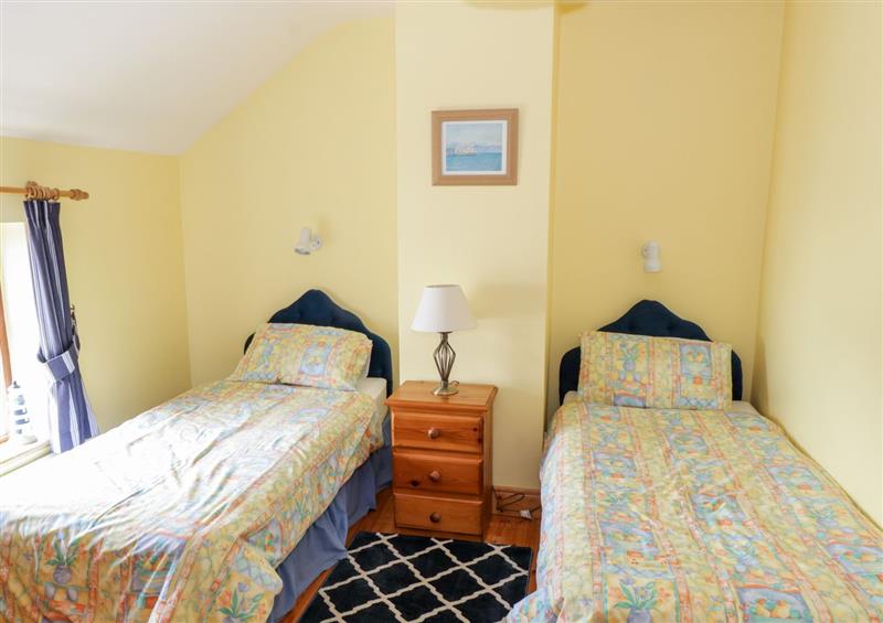
[(98, 434), (95, 415), (86, 398), (77, 361), (79, 343), (71, 314), (67, 273), (64, 268), (61, 206), (57, 202), (24, 202), (28, 251), (40, 325), (38, 358), (49, 376), (50, 430), (53, 452), (64, 452)]

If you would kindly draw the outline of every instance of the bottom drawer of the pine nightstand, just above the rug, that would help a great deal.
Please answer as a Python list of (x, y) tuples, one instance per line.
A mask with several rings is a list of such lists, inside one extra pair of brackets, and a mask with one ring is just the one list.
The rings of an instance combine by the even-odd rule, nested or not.
[(443, 533), (481, 534), (481, 501), (395, 493), (395, 524)]

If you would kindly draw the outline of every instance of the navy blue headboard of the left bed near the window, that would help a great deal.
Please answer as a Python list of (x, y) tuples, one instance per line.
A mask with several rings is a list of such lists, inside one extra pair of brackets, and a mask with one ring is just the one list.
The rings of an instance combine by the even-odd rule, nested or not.
[[(368, 376), (385, 378), (386, 396), (393, 393), (393, 356), (390, 345), (376, 333), (371, 333), (358, 315), (338, 305), (321, 290), (307, 290), (297, 301), (273, 314), (267, 322), (337, 326), (364, 333), (372, 342)], [(252, 333), (245, 341), (246, 351), (254, 336)]]

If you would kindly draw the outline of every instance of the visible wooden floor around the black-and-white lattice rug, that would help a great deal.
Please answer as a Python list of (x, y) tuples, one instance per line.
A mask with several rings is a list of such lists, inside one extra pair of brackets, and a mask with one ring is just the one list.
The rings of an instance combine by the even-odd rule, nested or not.
[[(398, 533), (407, 535), (430, 535), (430, 533), (422, 530), (396, 529), (393, 519), (393, 498), (392, 490), (385, 488), (377, 494), (377, 509), (370, 512), (362, 519), (360, 519), (352, 528), (347, 537), (349, 545), (352, 537), (362, 530), (372, 533)], [(462, 540), (478, 540), (476, 537), (468, 537), (465, 535), (455, 536)], [(522, 519), (521, 517), (510, 517), (503, 515), (493, 515), (488, 529), (485, 534), (487, 543), (506, 544), (506, 545), (520, 545), (533, 549), (533, 557), (531, 558), (531, 579), (528, 591), (532, 592), (536, 589), (536, 551), (540, 547), (540, 519), (533, 520)], [(331, 569), (323, 572), (316, 578), (313, 582), (307, 587), (307, 590), (300, 595), (295, 604), (295, 609), (285, 617), (283, 623), (296, 623), (298, 619), (307, 610), (307, 606), (312, 601), (312, 597), (319, 587), (322, 586), (325, 579), (331, 573)]]

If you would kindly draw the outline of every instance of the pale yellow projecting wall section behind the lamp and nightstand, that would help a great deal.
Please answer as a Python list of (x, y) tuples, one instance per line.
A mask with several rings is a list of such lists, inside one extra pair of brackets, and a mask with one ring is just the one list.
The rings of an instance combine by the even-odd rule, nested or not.
[[(493, 481), (538, 485), (545, 401), (552, 3), (396, 7), (402, 379), (433, 379), (438, 336), (411, 331), (427, 283), (460, 283), (478, 329), (453, 377), (500, 388)], [(517, 186), (433, 186), (429, 111), (519, 108)]]

